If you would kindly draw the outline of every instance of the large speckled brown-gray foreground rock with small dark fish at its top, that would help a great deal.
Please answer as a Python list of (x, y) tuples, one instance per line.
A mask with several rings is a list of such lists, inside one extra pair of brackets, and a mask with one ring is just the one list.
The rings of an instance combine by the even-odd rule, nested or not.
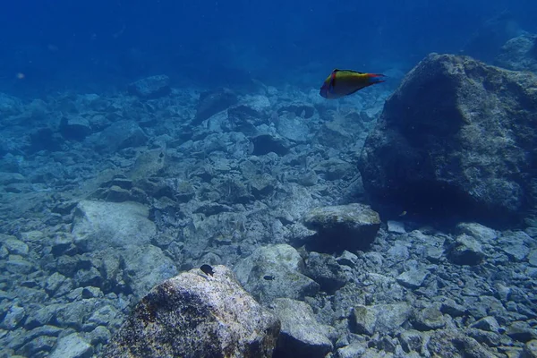
[(183, 272), (136, 305), (103, 356), (270, 357), (279, 320), (224, 266)]

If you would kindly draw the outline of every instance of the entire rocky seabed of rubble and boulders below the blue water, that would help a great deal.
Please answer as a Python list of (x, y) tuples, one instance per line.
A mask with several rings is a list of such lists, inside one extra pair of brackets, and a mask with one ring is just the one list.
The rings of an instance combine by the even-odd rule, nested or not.
[[(461, 198), (489, 218), (530, 209), (530, 85), (430, 55), (384, 112), (379, 87), (337, 104), (269, 86), (3, 96), (0, 357), (158, 356), (158, 339), (183, 355), (532, 356), (537, 219), (414, 220)], [(189, 345), (193, 327), (215, 335)]]

